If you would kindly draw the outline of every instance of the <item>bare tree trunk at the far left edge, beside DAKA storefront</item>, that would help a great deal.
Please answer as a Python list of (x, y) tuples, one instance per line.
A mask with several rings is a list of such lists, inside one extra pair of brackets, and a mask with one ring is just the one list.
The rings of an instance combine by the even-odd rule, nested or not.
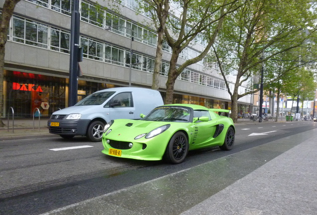
[(0, 14), (0, 127), (3, 127), (3, 71), (4, 71), (4, 55), (5, 43), (7, 40), (7, 31), (9, 28), (10, 19), (13, 14), (15, 5), (20, 0), (5, 0), (2, 6), (2, 13)]

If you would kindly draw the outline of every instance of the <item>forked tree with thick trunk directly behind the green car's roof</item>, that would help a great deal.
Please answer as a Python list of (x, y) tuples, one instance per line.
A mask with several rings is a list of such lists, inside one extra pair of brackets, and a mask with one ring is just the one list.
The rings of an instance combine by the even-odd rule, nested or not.
[[(178, 3), (181, 13), (169, 15), (169, 28), (165, 28), (166, 41), (172, 50), (166, 81), (165, 104), (172, 103), (177, 77), (186, 67), (201, 61), (207, 55), (227, 14), (241, 6), (239, 0), (180, 0)], [(198, 33), (203, 33), (207, 39), (204, 50), (198, 56), (177, 66), (181, 51), (194, 41)]]

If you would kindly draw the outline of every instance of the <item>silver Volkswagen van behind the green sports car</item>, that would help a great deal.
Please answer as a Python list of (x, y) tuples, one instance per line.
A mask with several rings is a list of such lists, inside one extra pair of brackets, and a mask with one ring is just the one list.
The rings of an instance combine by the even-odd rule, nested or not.
[(81, 100), (75, 106), (57, 110), (47, 122), (49, 132), (63, 138), (87, 136), (101, 141), (105, 124), (112, 119), (137, 119), (153, 108), (163, 105), (159, 91), (120, 87), (101, 90)]

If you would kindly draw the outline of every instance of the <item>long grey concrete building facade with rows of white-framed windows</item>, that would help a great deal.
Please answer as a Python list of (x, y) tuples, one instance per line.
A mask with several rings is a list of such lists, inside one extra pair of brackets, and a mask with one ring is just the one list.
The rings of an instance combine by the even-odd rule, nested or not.
[[(4, 0), (0, 0), (0, 6)], [(5, 46), (3, 82), (4, 117), (14, 109), (15, 116), (32, 116), (38, 108), (49, 116), (68, 107), (69, 53), (72, 0), (21, 0), (10, 21)], [(151, 19), (137, 12), (134, 0), (80, 3), (80, 47), (82, 76), (78, 77), (78, 101), (91, 93), (129, 85), (130, 48), (132, 48), (131, 85), (151, 88), (156, 54), (155, 29), (144, 24)], [(113, 27), (111, 27), (113, 26)], [(117, 26), (117, 27), (116, 27)], [(111, 27), (109, 29), (109, 27)], [(134, 41), (131, 43), (131, 38)], [(195, 57), (204, 47), (197, 38), (180, 55), (178, 63)], [(132, 45), (132, 47), (131, 47)], [(164, 98), (170, 47), (163, 46), (159, 91)], [(227, 77), (233, 87), (235, 76)], [(176, 80), (173, 103), (191, 103), (208, 108), (230, 108), (231, 101), (217, 65), (205, 58), (186, 68)], [(240, 93), (247, 91), (242, 86)], [(251, 96), (239, 100), (241, 113), (252, 111)]]

